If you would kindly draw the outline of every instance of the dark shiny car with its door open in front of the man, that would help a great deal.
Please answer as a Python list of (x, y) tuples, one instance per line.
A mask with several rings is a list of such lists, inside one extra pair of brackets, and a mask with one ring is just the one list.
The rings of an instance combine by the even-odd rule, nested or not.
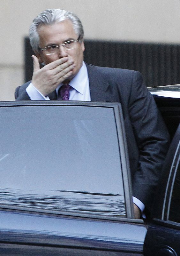
[(0, 255), (180, 255), (180, 101), (157, 97), (173, 139), (150, 222), (134, 219), (120, 103), (0, 103)]

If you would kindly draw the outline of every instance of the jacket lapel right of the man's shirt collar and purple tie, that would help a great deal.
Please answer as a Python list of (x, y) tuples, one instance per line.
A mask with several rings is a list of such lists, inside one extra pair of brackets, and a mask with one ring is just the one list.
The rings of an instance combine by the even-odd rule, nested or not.
[(116, 102), (116, 95), (107, 79), (96, 66), (86, 64), (92, 101)]

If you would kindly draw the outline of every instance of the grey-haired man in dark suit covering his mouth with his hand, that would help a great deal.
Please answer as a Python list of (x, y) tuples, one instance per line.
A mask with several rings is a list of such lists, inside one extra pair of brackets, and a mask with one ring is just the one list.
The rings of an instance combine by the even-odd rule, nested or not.
[(37, 16), (29, 29), (36, 54), (32, 81), (19, 86), (15, 98), (121, 102), (134, 212), (140, 218), (145, 208), (150, 210), (169, 135), (139, 72), (84, 63), (83, 37), (81, 21), (71, 12), (54, 9)]

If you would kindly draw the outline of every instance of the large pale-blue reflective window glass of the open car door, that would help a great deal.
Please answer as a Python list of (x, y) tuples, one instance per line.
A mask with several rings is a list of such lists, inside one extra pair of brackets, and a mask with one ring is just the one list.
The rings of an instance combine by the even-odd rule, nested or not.
[(113, 108), (0, 108), (0, 203), (124, 215)]

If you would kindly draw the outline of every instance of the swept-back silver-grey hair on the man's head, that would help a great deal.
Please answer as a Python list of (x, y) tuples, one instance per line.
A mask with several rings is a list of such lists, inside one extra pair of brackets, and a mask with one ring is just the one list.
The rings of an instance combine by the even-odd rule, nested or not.
[(34, 20), (29, 28), (30, 44), (34, 52), (38, 52), (40, 43), (39, 34), (37, 29), (42, 25), (51, 25), (63, 20), (71, 20), (73, 28), (77, 36), (79, 36), (79, 42), (82, 43), (84, 37), (84, 30), (79, 18), (72, 12), (61, 9), (48, 9), (41, 12)]

